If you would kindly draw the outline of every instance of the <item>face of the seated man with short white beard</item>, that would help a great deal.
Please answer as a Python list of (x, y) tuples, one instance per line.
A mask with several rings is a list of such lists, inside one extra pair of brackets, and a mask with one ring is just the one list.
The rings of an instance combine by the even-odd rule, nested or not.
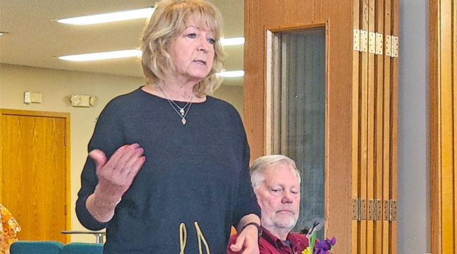
[(281, 163), (265, 169), (263, 176), (264, 181), (255, 191), (262, 210), (262, 226), (290, 231), (300, 210), (300, 185), (295, 170)]

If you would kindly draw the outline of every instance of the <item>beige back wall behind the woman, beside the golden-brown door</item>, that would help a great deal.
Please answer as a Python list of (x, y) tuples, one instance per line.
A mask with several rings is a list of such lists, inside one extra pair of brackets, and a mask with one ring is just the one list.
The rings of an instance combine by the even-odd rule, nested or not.
[[(80, 188), (80, 174), (87, 157), (90, 140), (99, 112), (110, 99), (135, 90), (143, 78), (120, 75), (59, 71), (0, 64), (0, 108), (33, 111), (56, 111), (71, 114), (71, 230), (83, 230), (75, 214)], [(41, 104), (24, 104), (25, 91), (42, 94)], [(70, 95), (97, 96), (95, 107), (71, 107)], [(231, 102), (243, 111), (243, 87), (221, 86), (215, 97)], [(93, 243), (95, 236), (73, 235), (71, 241)]]

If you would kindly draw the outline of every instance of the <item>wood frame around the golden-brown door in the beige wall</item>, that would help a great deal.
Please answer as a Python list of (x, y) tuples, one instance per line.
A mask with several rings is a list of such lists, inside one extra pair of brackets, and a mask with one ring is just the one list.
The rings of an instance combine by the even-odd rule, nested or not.
[[(62, 112), (51, 112), (51, 111), (30, 111), (30, 110), (19, 110), (19, 109), (0, 109), (0, 144), (2, 143), (2, 136), (1, 136), (1, 118), (4, 115), (16, 115), (16, 116), (39, 116), (39, 117), (52, 117), (52, 118), (63, 118), (65, 119), (66, 123), (66, 200), (65, 205), (67, 207), (67, 214), (66, 214), (66, 230), (71, 229), (71, 159), (70, 159), (70, 152), (71, 152), (71, 145), (70, 145), (70, 113), (62, 113)], [(2, 181), (1, 176), (3, 176), (3, 167), (2, 167), (2, 147), (0, 145), (0, 183)], [(0, 202), (2, 202), (2, 195), (0, 195)], [(65, 236), (66, 243), (70, 242), (70, 235)]]

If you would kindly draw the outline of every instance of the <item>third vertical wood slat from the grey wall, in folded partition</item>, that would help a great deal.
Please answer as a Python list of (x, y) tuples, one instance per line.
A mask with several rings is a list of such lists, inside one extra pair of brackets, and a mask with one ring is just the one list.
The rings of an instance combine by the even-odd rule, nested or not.
[[(375, 30), (380, 34), (384, 34), (384, 0), (376, 0), (376, 25)], [(375, 116), (374, 119), (375, 125), (375, 138), (374, 138), (374, 162), (375, 162), (375, 174), (374, 174), (374, 197), (377, 200), (382, 201), (382, 126), (383, 126), (383, 97), (384, 97), (384, 87), (383, 87), (383, 77), (384, 77), (384, 62), (382, 55), (374, 56), (374, 61), (376, 65), (375, 69)], [(378, 220), (374, 224), (374, 253), (382, 253), (382, 220)]]

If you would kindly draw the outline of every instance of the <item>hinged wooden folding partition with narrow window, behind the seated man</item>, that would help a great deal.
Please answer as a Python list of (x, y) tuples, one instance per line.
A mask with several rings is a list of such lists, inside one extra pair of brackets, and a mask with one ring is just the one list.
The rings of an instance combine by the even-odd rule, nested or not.
[[(325, 235), (336, 236), (335, 253), (396, 253), (398, 51), (391, 46), (398, 46), (398, 1), (245, 1), (243, 101), (251, 160), (288, 155), (271, 147), (284, 146), (291, 121), (272, 111), (285, 114), (284, 99), (291, 96), (272, 94), (291, 83), (276, 73), (301, 63), (283, 61), (287, 54), (275, 53), (284, 51), (276, 42), (283, 42), (279, 35), (315, 29), (325, 31)], [(279, 69), (276, 60), (284, 63)]]

